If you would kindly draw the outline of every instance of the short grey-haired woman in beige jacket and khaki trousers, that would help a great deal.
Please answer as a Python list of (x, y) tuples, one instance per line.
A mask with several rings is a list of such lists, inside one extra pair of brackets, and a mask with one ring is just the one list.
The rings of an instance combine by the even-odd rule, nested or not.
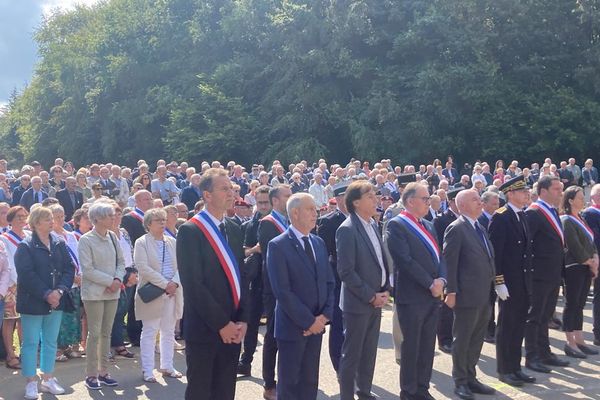
[(98, 200), (90, 206), (88, 216), (94, 228), (79, 240), (81, 299), (88, 316), (85, 385), (99, 390), (101, 385), (118, 385), (108, 373), (108, 356), (125, 261), (118, 239), (110, 231), (115, 218), (114, 203)]

